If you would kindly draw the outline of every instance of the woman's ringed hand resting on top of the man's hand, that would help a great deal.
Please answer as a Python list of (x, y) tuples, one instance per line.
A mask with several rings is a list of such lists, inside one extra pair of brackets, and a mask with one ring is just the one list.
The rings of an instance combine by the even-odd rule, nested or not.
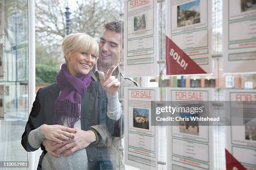
[(71, 140), (72, 138), (74, 138), (74, 134), (72, 133), (77, 133), (77, 131), (75, 129), (67, 128), (61, 125), (42, 126), (42, 134), (44, 135), (44, 137), (57, 143), (64, 144), (64, 142), (59, 139)]

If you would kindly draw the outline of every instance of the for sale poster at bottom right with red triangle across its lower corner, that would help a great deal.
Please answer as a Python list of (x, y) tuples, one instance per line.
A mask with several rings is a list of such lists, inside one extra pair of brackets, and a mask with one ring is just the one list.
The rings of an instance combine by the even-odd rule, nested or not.
[[(229, 101), (226, 113), (231, 122), (225, 127), (226, 163), (230, 163), (227, 155), (232, 155), (247, 170), (256, 170), (256, 90), (225, 90), (224, 94)], [(230, 164), (227, 166), (237, 168), (236, 162)]]

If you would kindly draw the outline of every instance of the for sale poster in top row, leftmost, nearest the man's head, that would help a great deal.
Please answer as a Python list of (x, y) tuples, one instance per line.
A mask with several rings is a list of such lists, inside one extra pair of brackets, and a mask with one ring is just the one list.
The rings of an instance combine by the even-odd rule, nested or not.
[(124, 75), (158, 75), (158, 14), (156, 0), (124, 2)]

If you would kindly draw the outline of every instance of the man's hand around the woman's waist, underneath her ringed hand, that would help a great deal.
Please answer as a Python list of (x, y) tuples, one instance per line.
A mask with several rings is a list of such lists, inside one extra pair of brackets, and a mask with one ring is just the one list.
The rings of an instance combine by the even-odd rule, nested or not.
[(77, 130), (77, 133), (74, 134), (74, 139), (70, 141), (65, 140), (64, 144), (53, 143), (54, 147), (52, 150), (56, 150), (57, 154), (64, 153), (65, 156), (68, 156), (77, 150), (86, 148), (96, 140), (95, 133), (92, 130), (84, 131), (78, 128), (74, 129)]

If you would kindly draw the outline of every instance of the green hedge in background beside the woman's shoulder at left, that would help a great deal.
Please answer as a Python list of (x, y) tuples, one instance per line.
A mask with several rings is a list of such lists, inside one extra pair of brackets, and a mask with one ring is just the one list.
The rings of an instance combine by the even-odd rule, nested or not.
[(58, 67), (36, 65), (36, 83), (54, 83), (56, 82), (55, 77), (58, 72)]

